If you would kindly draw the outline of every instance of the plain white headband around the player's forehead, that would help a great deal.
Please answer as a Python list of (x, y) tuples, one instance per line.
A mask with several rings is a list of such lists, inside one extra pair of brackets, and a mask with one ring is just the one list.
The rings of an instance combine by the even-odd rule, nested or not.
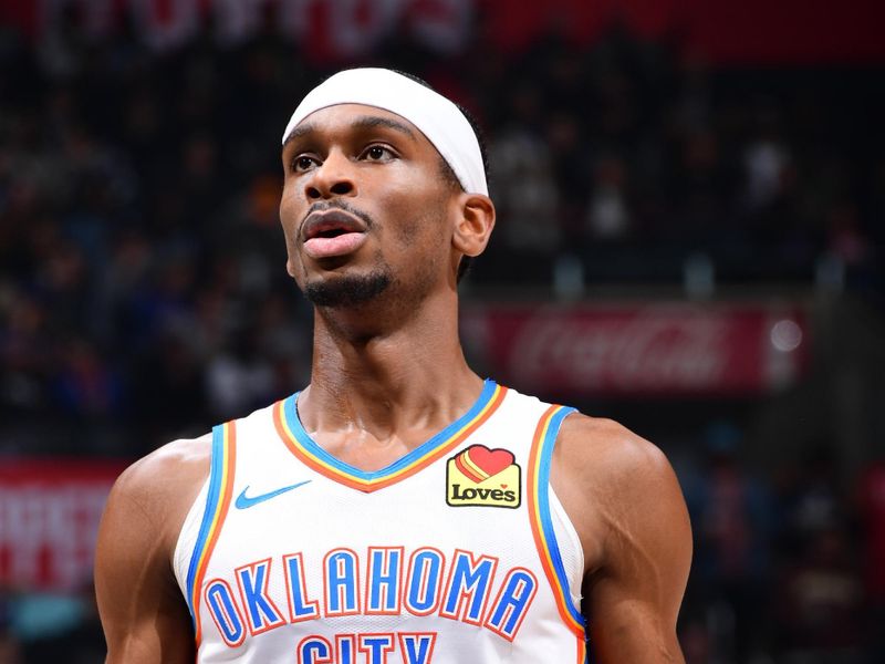
[(298, 105), (283, 143), (308, 115), (336, 104), (365, 104), (406, 118), (434, 144), (465, 191), (489, 195), (479, 141), (464, 113), (441, 94), (391, 70), (353, 69), (326, 79)]

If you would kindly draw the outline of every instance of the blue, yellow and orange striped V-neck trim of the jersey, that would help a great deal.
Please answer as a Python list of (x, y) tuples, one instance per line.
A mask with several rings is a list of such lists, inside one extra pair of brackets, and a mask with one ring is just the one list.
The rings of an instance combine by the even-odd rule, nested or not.
[(479, 397), (464, 415), (391, 465), (372, 471), (346, 464), (316, 444), (298, 414), (300, 392), (277, 402), (273, 421), (283, 443), (301, 461), (329, 479), (372, 492), (415, 475), (457, 447), (498, 409), (506, 393), (507, 387), (486, 378)]

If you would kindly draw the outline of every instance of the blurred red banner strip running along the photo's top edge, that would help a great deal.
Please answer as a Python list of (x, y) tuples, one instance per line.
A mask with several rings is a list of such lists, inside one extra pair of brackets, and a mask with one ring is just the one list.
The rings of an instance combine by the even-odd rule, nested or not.
[(581, 44), (613, 21), (644, 39), (678, 39), (717, 63), (867, 62), (885, 58), (879, 25), (865, 20), (875, 0), (1, 0), (3, 17), (33, 39), (51, 39), (70, 7), (82, 12), (93, 38), (126, 31), (154, 49), (180, 46), (210, 21), (227, 45), (259, 31), (268, 7), (274, 28), (310, 43), (317, 59), (371, 54), (394, 32), (407, 32), (441, 52), (464, 49), (476, 13), (493, 17), (483, 38), (514, 50), (559, 23)]

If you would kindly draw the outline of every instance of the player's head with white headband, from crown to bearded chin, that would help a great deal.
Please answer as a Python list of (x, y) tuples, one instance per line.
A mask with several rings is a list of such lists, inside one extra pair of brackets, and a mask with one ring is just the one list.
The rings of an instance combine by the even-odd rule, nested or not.
[(367, 301), (400, 279), (429, 288), (447, 268), (454, 283), (493, 226), (470, 122), (389, 70), (347, 70), (311, 91), (283, 134), (283, 167), (288, 269), (319, 305)]

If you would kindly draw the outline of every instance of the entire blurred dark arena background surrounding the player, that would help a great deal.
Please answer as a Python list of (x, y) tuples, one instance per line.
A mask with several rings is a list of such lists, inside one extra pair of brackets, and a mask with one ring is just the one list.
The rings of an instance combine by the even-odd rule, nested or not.
[(280, 135), (351, 65), (486, 129), (467, 356), (671, 459), (689, 664), (885, 662), (885, 6), (0, 0), (0, 664), (103, 661), (113, 477), (310, 380)]

